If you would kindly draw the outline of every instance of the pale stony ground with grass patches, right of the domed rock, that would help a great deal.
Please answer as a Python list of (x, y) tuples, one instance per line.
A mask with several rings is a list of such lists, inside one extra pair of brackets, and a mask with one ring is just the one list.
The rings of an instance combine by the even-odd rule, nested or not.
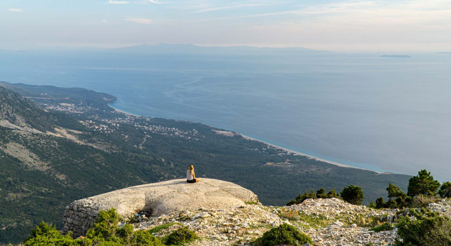
[[(395, 241), (393, 231), (373, 232), (370, 227), (382, 224), (379, 218), (390, 220), (390, 209), (368, 209), (339, 199), (306, 200), (290, 207), (267, 207), (246, 204), (232, 209), (191, 210), (164, 214), (159, 217), (140, 218), (138, 230), (170, 225), (156, 232), (162, 237), (177, 227), (187, 226), (202, 239), (193, 246), (249, 245), (264, 232), (281, 223), (296, 226), (312, 238), (314, 245), (366, 246), (390, 245)], [(388, 216), (387, 216), (388, 215)], [(367, 227), (363, 227), (367, 226)]]

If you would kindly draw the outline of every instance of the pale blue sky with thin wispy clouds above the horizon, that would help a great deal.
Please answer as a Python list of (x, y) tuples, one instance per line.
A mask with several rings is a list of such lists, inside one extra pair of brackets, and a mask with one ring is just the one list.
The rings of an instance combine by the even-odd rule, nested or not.
[(451, 0), (1, 0), (0, 33), (0, 45), (451, 51)]

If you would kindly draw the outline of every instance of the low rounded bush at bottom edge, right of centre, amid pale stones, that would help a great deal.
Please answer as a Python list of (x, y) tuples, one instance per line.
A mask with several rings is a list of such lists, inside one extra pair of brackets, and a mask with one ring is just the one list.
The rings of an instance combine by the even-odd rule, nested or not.
[(276, 246), (276, 245), (292, 245), (301, 246), (305, 243), (313, 243), (312, 239), (302, 232), (299, 232), (296, 227), (288, 224), (281, 224), (276, 228), (263, 233), (262, 237), (253, 241), (254, 246)]

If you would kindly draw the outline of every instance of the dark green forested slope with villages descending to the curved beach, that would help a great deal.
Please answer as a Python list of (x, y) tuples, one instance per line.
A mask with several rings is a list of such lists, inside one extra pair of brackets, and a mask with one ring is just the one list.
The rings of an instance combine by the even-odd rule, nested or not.
[[(43, 106), (60, 110), (45, 111), (18, 93), (0, 92), (2, 107), (12, 112), (1, 119), (28, 125), (0, 129), (0, 242), (23, 239), (41, 219), (61, 227), (73, 200), (183, 178), (189, 164), (197, 176), (232, 181), (268, 205), (283, 205), (310, 188), (340, 191), (351, 183), (371, 200), (386, 195), (388, 182), (406, 187), (410, 177), (319, 162), (200, 123), (104, 111), (98, 105), (108, 100), (77, 112), (56, 100)], [(85, 92), (70, 96), (88, 99)]]

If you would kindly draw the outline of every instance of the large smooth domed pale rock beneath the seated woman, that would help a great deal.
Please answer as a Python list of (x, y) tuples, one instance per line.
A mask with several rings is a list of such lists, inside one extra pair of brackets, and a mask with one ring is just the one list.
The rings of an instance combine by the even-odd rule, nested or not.
[(202, 179), (194, 184), (177, 179), (133, 186), (74, 201), (64, 212), (63, 232), (84, 235), (98, 211), (104, 209), (114, 208), (124, 217), (140, 212), (161, 216), (202, 207), (229, 209), (244, 206), (246, 202), (258, 202), (257, 195), (241, 186), (215, 179)]

